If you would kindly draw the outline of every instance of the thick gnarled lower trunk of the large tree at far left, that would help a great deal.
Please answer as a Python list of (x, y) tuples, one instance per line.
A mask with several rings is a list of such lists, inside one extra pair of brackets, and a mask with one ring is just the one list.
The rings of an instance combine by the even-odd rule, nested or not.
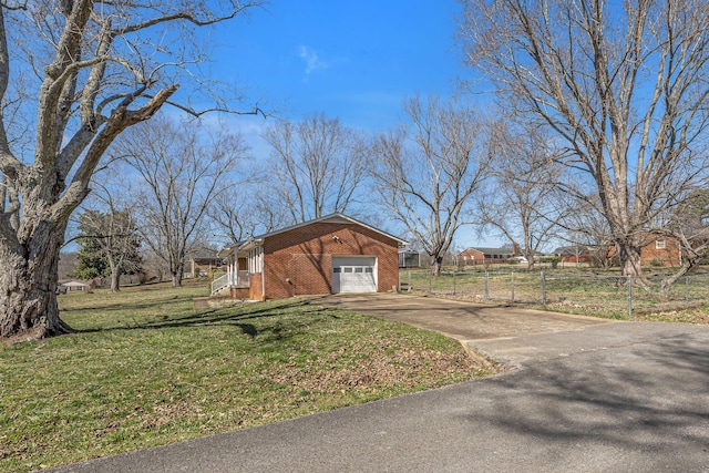
[(0, 337), (40, 339), (70, 333), (59, 317), (56, 275), (62, 233), (38, 225), (28, 244), (0, 239)]

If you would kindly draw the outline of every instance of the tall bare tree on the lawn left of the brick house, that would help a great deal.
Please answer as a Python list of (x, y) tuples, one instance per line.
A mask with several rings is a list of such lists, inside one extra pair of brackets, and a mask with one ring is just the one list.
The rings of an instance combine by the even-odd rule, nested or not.
[(161, 116), (124, 133), (111, 155), (137, 172), (130, 192), (141, 203), (143, 240), (168, 265), (173, 286), (182, 286), (185, 257), (208, 229), (203, 217), (246, 155), (240, 137)]

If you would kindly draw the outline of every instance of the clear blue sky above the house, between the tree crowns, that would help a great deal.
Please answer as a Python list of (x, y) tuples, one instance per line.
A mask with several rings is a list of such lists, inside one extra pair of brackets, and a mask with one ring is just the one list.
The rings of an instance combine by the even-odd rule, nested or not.
[[(218, 30), (213, 73), (246, 88), (245, 105), (258, 101), (279, 117), (323, 113), (384, 131), (400, 122), (407, 97), (455, 92), (465, 73), (454, 40), (460, 10), (455, 0), (274, 0)], [(257, 160), (268, 154), (259, 134), (271, 120), (233, 121)], [(469, 228), (456, 240), (483, 243)]]

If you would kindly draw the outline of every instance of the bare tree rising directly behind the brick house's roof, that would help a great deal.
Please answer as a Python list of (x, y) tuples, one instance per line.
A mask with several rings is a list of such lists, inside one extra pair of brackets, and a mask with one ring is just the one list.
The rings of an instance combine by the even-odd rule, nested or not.
[(351, 207), (368, 173), (363, 136), (325, 115), (277, 123), (263, 136), (271, 146), (270, 173), (291, 223)]

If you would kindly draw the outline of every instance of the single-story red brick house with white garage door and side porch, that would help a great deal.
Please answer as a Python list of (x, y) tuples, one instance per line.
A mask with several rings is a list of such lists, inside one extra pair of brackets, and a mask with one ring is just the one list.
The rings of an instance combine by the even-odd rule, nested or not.
[(384, 292), (399, 285), (399, 248), (405, 244), (331, 214), (234, 244), (219, 256), (227, 261), (225, 276), (236, 298)]

